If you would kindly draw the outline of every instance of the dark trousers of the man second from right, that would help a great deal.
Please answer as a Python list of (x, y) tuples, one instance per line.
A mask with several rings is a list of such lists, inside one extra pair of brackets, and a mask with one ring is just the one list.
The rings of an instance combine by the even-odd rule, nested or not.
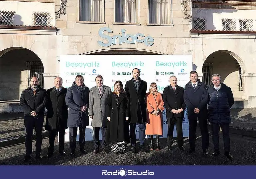
[(209, 134), (208, 134), (208, 125), (207, 117), (197, 114), (193, 114), (189, 117), (189, 144), (190, 148), (195, 148), (195, 132), (197, 126), (197, 119), (199, 122), (199, 127), (202, 136), (202, 149), (206, 150), (209, 147)]

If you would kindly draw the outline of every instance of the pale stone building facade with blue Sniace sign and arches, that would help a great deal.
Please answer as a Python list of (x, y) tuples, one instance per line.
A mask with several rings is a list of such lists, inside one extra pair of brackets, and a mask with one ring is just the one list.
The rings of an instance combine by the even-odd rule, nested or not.
[(189, 54), (234, 107), (256, 107), (254, 14), (252, 0), (0, 0), (0, 111), (19, 110), (32, 76), (51, 88), (68, 54)]

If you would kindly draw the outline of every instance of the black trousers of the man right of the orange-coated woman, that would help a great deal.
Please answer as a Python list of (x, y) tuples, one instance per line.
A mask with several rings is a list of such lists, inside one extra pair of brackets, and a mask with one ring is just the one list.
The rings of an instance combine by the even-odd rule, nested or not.
[(167, 122), (168, 122), (168, 131), (167, 131), (168, 145), (169, 146), (173, 145), (173, 131), (174, 131), (174, 126), (176, 125), (178, 147), (182, 147), (184, 144), (183, 129), (182, 129), (183, 118), (181, 117), (167, 118)]

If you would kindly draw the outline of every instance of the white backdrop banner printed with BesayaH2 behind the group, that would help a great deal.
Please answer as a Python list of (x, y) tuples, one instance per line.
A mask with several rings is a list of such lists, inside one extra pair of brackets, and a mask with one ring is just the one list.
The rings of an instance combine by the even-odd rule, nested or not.
[[(140, 69), (140, 77), (147, 82), (147, 92), (152, 82), (158, 86), (158, 91), (163, 93), (169, 86), (169, 78), (175, 75), (178, 85), (184, 87), (189, 82), (189, 73), (192, 71), (192, 55), (63, 55), (60, 57), (60, 77), (63, 78), (63, 87), (72, 86), (76, 75), (82, 75), (84, 84), (88, 87), (96, 86), (95, 77), (102, 75), (103, 84), (114, 90), (117, 80), (125, 82), (132, 79), (132, 70)], [(100, 132), (101, 134), (101, 132)], [(91, 121), (86, 127), (85, 140), (93, 140), (93, 127)], [(187, 110), (183, 119), (183, 135), (189, 136), (189, 123)], [(138, 126), (136, 137), (139, 137)], [(167, 137), (167, 119), (163, 111), (163, 136)], [(174, 130), (176, 137), (176, 128)], [(77, 141), (79, 140), (79, 129)], [(101, 140), (101, 135), (100, 135)], [(65, 131), (65, 141), (69, 141), (69, 129)]]

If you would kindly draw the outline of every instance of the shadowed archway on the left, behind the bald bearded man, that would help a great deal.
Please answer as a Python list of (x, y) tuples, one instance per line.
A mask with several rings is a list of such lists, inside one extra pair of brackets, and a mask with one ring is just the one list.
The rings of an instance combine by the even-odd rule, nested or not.
[(30, 85), (30, 79), (39, 78), (44, 86), (44, 67), (40, 58), (31, 50), (11, 47), (0, 52), (0, 101), (19, 100), (21, 92)]

